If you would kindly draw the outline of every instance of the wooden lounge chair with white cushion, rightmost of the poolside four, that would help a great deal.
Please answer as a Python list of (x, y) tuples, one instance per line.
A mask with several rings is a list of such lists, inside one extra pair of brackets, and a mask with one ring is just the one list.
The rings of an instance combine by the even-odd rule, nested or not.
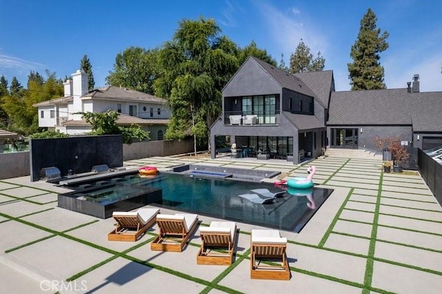
[(290, 280), (287, 238), (278, 230), (251, 230), (251, 279)]

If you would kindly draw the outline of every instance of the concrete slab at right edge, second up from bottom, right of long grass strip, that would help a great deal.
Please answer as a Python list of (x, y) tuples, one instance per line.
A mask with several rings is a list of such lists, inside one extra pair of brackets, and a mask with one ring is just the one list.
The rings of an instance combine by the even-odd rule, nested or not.
[[(440, 238), (442, 242), (442, 237)], [(442, 273), (442, 253), (440, 252), (376, 242), (374, 256), (392, 262), (410, 264), (419, 268), (427, 268)]]

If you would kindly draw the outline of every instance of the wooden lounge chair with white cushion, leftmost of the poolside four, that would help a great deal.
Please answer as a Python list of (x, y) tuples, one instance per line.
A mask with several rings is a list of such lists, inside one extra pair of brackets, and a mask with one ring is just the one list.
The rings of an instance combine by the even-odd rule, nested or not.
[(159, 208), (140, 208), (137, 211), (113, 212), (117, 227), (108, 233), (109, 241), (132, 241), (144, 234), (155, 224), (155, 217), (160, 213)]

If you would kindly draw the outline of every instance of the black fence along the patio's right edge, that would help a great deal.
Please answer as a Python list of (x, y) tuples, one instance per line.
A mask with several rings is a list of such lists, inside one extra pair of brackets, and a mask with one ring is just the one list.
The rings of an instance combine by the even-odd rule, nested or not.
[(418, 163), (421, 177), (442, 206), (442, 164), (436, 162), (421, 149), (418, 151)]

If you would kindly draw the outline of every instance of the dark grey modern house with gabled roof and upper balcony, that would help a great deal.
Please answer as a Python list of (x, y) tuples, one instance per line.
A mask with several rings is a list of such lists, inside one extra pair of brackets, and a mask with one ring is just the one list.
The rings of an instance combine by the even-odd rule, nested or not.
[(294, 164), (323, 148), (376, 151), (376, 135), (430, 148), (442, 144), (441, 112), (442, 92), (419, 92), (417, 75), (407, 88), (336, 92), (332, 70), (291, 75), (249, 57), (222, 91), (211, 157), (226, 140), (237, 156)]

